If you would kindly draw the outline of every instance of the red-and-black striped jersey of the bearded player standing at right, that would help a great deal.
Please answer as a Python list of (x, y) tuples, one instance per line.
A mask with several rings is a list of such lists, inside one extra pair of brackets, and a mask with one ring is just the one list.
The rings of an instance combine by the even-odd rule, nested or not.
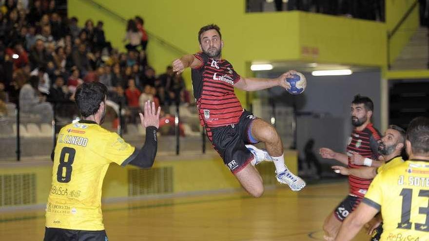
[[(354, 153), (372, 160), (378, 160), (378, 142), (381, 139), (378, 130), (372, 124), (368, 124), (364, 130), (353, 130), (347, 145), (347, 156), (349, 157), (349, 168), (360, 168), (362, 166), (350, 163), (350, 158)], [(370, 187), (372, 179), (362, 179), (349, 176), (350, 193), (363, 198)]]

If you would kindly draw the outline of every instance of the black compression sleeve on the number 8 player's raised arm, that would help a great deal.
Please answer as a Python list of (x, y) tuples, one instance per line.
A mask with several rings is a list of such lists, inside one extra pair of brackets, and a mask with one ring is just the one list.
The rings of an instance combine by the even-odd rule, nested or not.
[(143, 147), (138, 151), (137, 156), (129, 162), (129, 164), (141, 167), (152, 167), (155, 161), (156, 150), (158, 148), (158, 140), (156, 139), (156, 131), (154, 126), (146, 128), (146, 141)]

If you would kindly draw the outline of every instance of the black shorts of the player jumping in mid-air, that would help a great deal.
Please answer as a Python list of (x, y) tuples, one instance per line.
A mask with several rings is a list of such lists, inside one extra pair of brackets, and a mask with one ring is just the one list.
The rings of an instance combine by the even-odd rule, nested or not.
[(206, 128), (213, 147), (222, 157), (225, 166), (234, 174), (254, 159), (252, 152), (244, 145), (259, 142), (251, 132), (252, 122), (257, 118), (252, 112), (244, 110), (237, 124)]

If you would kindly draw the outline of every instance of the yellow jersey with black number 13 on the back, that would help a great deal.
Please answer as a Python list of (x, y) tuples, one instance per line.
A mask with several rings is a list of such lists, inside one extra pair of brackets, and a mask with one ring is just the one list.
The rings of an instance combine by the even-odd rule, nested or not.
[(429, 162), (385, 168), (362, 201), (383, 216), (380, 241), (429, 241)]

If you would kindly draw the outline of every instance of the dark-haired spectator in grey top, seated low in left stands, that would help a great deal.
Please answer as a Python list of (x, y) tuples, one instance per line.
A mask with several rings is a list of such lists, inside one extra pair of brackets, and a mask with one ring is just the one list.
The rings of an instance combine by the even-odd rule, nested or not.
[(43, 123), (52, 121), (52, 106), (45, 101), (46, 96), (39, 94), (39, 77), (31, 76), (20, 91), (20, 109), (22, 113), (36, 114)]

